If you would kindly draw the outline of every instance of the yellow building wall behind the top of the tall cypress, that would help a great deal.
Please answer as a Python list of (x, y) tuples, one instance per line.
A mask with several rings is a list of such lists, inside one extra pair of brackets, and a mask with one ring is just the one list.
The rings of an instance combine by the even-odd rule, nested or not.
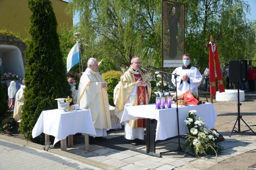
[[(57, 31), (61, 34), (60, 24), (68, 23), (73, 26), (73, 17), (65, 14), (68, 2), (62, 0), (51, 0), (53, 10), (58, 22)], [(24, 38), (29, 37), (29, 17), (32, 13), (28, 8), (27, 0), (0, 0), (0, 30), (3, 27), (13, 33), (20, 32)]]

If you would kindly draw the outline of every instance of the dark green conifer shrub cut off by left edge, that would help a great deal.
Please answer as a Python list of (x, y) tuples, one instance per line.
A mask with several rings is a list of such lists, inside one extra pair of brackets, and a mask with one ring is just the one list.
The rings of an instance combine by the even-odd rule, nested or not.
[[(1, 74), (0, 74), (1, 75)], [(7, 112), (9, 107), (5, 100), (5, 93), (3, 90), (3, 84), (0, 82), (0, 123), (11, 115), (11, 112)]]

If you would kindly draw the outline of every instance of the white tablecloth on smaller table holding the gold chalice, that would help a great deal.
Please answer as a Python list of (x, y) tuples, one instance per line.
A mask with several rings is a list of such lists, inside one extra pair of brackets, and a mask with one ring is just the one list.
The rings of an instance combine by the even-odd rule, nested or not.
[(96, 136), (93, 120), (87, 109), (69, 112), (61, 112), (58, 109), (43, 111), (32, 130), (32, 137), (35, 138), (41, 133), (54, 136), (53, 145), (76, 133)]

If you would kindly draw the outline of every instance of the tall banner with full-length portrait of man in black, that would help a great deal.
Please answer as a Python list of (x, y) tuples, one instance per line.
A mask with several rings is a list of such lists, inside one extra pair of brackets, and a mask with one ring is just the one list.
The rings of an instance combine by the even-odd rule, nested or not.
[(185, 53), (185, 4), (162, 0), (162, 67), (180, 67)]

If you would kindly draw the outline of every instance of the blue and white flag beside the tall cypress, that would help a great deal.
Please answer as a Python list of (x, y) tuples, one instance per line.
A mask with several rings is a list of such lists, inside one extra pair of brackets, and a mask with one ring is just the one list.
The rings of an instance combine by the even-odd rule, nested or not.
[(76, 65), (79, 62), (80, 62), (80, 54), (79, 54), (79, 44), (77, 41), (74, 47), (72, 47), (72, 49), (70, 50), (67, 58), (67, 73), (74, 65)]

